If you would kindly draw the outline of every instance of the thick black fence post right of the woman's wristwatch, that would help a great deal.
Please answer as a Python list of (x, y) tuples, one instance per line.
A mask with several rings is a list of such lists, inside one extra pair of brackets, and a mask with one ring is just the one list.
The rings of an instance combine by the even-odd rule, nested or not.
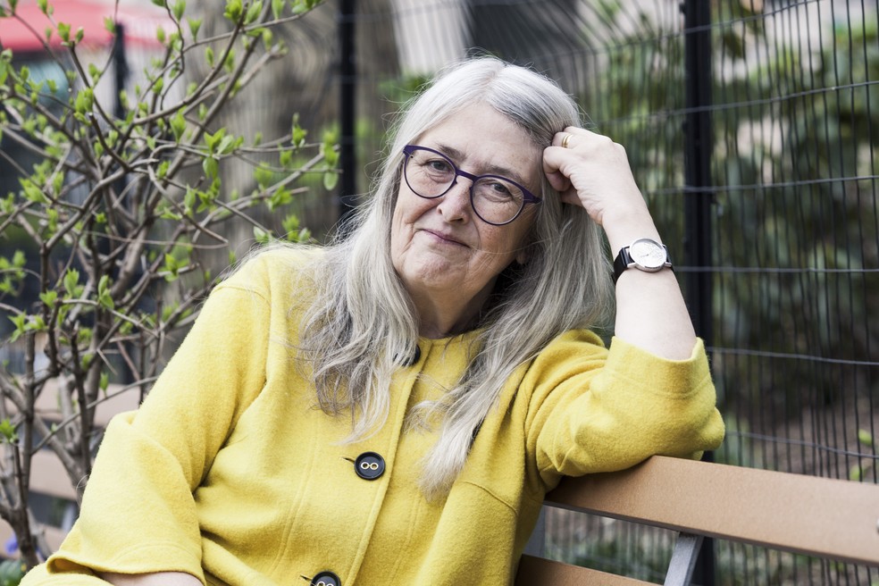
[[(684, 0), (684, 61), (686, 69), (686, 108), (684, 122), (684, 217), (686, 264), (693, 272), (687, 276), (687, 299), (696, 333), (711, 346), (711, 7), (705, 0)], [(703, 458), (713, 460), (710, 452)], [(702, 543), (693, 582), (714, 586), (716, 573), (714, 540)]]

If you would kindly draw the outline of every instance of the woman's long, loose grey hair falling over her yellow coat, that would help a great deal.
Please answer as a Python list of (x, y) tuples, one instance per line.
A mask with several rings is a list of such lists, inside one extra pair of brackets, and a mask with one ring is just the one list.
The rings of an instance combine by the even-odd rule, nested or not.
[[(320, 290), (300, 332), (318, 404), (329, 414), (351, 414), (351, 439), (385, 422), (391, 377), (418, 342), (418, 315), (390, 256), (402, 149), (477, 103), (515, 121), (541, 148), (566, 126), (581, 125), (573, 99), (554, 82), (489, 57), (449, 68), (404, 107), (389, 134), (373, 196), (357, 210), (349, 236), (322, 256), (315, 275)], [(603, 326), (612, 311), (599, 227), (582, 208), (562, 204), (545, 177), (540, 195), (528, 260), (498, 279), (503, 285), (485, 308), (469, 366), (443, 398), (416, 410), (422, 422), (439, 427), (423, 462), (421, 485), (429, 498), (448, 492), (474, 431), (515, 369), (564, 331)]]

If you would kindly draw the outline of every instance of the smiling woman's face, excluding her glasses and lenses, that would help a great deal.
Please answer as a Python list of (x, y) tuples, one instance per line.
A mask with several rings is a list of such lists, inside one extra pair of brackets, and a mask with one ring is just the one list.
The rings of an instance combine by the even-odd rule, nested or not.
[[(497, 174), (540, 193), (542, 148), (490, 105), (473, 105), (414, 140), (447, 155), (458, 169)], [(525, 238), (534, 205), (514, 222), (483, 222), (470, 204), (471, 180), (459, 177), (442, 197), (425, 199), (400, 180), (391, 226), (394, 268), (414, 297), (455, 296), (481, 306), (498, 274), (517, 257), (524, 262)]]

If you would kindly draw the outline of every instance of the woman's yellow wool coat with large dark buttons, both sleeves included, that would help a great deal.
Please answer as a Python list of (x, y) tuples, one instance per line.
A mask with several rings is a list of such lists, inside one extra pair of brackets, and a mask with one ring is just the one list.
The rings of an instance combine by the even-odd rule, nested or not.
[(291, 359), (301, 263), (258, 255), (214, 290), (143, 406), (109, 425), (80, 519), (24, 586), (105, 584), (92, 570), (218, 586), (306, 586), (327, 571), (343, 586), (506, 584), (562, 475), (697, 456), (723, 437), (701, 343), (667, 361), (570, 331), (515, 372), (448, 497), (429, 501), (417, 481), (436, 436), (406, 429), (406, 413), (456, 381), (473, 333), (421, 339), (387, 422), (346, 443), (350, 416), (316, 408)]

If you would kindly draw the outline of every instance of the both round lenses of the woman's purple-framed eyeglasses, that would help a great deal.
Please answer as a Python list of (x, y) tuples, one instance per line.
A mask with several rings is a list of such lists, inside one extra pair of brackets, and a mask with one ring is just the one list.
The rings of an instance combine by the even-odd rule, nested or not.
[[(406, 184), (421, 197), (439, 197), (455, 183), (457, 167), (448, 157), (413, 148), (406, 157)], [(522, 188), (498, 175), (481, 175), (471, 188), (473, 210), (485, 222), (510, 222), (522, 210)]]

